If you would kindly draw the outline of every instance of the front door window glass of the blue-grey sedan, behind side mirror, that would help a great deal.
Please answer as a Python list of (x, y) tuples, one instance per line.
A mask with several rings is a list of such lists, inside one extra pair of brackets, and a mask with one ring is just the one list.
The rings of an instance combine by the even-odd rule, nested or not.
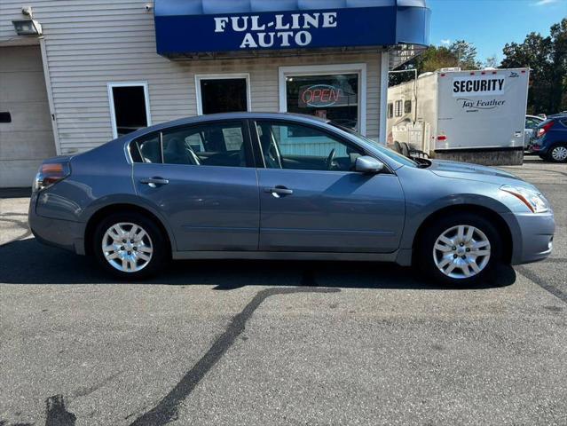
[(357, 147), (322, 130), (287, 122), (256, 122), (264, 163), (268, 169), (350, 171)]

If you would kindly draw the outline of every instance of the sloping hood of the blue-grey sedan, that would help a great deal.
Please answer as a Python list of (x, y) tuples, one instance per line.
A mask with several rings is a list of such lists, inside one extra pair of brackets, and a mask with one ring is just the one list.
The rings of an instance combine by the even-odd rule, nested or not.
[(468, 162), (450, 162), (446, 160), (431, 160), (428, 170), (441, 177), (451, 177), (454, 179), (476, 180), (495, 185), (521, 184), (532, 186), (520, 177), (508, 173), (507, 171), (494, 169), (492, 167), (471, 164)]

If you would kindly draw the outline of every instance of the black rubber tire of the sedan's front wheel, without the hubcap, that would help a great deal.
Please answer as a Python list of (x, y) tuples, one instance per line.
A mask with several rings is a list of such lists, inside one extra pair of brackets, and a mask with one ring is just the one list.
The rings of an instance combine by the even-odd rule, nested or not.
[[(438, 269), (434, 257), (438, 256), (438, 252), (437, 255), (434, 255), (434, 247), (437, 239), (445, 233), (445, 231), (459, 225), (474, 226), (477, 230), (484, 233), (485, 237), (490, 242), (491, 253), (488, 257), (487, 264), (480, 272), (477, 272), (476, 275), (466, 278), (452, 278), (445, 275), (444, 272), (441, 272)], [(427, 229), (424, 230), (421, 234), (421, 239), (417, 244), (414, 264), (418, 267), (420, 272), (425, 274), (425, 276), (429, 279), (434, 280), (436, 283), (451, 286), (469, 286), (480, 283), (492, 284), (492, 282), (496, 279), (495, 272), (502, 259), (502, 249), (502, 238), (500, 237), (500, 233), (496, 227), (492, 225), (490, 220), (480, 215), (470, 213), (453, 213), (446, 217), (437, 219), (434, 223), (429, 224)], [(480, 259), (482, 260), (482, 257), (480, 257)]]

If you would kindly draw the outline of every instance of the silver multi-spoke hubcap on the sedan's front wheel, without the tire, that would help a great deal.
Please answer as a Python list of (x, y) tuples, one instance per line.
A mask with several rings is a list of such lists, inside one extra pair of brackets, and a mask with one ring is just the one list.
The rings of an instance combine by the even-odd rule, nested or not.
[(433, 246), (437, 269), (457, 280), (474, 277), (483, 271), (490, 256), (490, 241), (480, 229), (471, 225), (447, 229)]

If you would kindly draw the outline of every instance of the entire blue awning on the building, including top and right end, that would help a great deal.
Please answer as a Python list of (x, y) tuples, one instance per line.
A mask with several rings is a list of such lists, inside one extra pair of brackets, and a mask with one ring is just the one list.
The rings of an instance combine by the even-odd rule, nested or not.
[(155, 0), (161, 55), (429, 45), (425, 0)]

